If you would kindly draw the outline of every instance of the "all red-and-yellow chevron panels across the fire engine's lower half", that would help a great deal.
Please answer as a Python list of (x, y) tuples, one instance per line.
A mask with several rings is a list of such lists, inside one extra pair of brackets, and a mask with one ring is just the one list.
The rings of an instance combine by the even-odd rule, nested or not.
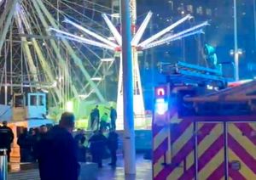
[[(228, 123), (229, 179), (256, 179), (255, 129), (256, 122)], [(171, 136), (172, 165), (162, 166), (161, 163), (164, 162), (166, 150), (158, 151), (162, 154), (158, 155), (160, 157), (158, 162), (154, 161), (154, 179), (195, 179), (193, 124), (184, 120), (172, 131), (177, 131), (172, 132)], [(159, 132), (164, 133), (165, 131)], [(159, 137), (163, 138), (167, 135), (161, 134)], [(159, 139), (159, 137), (157, 138)], [(156, 143), (155, 141), (154, 145), (163, 146), (162, 149), (167, 149), (167, 143)], [(223, 123), (198, 123), (197, 141), (198, 178), (224, 179)], [(161, 142), (165, 142), (165, 140)], [(159, 148), (154, 147), (154, 149)]]

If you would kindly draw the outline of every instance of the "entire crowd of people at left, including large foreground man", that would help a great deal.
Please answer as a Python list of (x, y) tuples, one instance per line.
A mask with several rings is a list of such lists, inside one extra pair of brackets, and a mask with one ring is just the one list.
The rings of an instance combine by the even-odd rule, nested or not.
[[(74, 132), (75, 117), (69, 112), (63, 113), (59, 124), (54, 127), (20, 128), (17, 135), (20, 162), (38, 162), (42, 180), (78, 179), (79, 162), (92, 161), (102, 168), (102, 160), (111, 157), (108, 165), (116, 166), (119, 143), (119, 135), (115, 132), (116, 116), (111, 107), (110, 123), (107, 113), (99, 119), (100, 112), (96, 105), (90, 117), (91, 126), (95, 126), (92, 134), (86, 134), (82, 129)], [(14, 133), (3, 121), (0, 149), (7, 149), (8, 157), (13, 141)]]

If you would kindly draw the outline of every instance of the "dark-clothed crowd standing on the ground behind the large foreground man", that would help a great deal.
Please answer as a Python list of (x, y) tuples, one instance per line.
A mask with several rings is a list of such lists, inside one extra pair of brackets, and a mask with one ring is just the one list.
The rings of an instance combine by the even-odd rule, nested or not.
[[(44, 141), (47, 132), (51, 128), (41, 127), (22, 128), (17, 140), (20, 146), (20, 162), (36, 162), (40, 154), (40, 143)], [(102, 167), (102, 159), (111, 157), (109, 165), (116, 166), (116, 150), (118, 149), (118, 134), (110, 127), (110, 130), (100, 128), (94, 131), (88, 139), (83, 129), (73, 132), (73, 138), (77, 146), (77, 158), (79, 162), (92, 161)]]

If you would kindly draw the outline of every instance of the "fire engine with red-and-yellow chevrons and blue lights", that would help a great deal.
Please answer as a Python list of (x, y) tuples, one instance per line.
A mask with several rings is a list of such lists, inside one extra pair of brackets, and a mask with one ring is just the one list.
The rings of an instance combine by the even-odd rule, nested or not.
[(229, 86), (219, 70), (163, 65), (155, 87), (153, 178), (256, 179), (256, 81)]

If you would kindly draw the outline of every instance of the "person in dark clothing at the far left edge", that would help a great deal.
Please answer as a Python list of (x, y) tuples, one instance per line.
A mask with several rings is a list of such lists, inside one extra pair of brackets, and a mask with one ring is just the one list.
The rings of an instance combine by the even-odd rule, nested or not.
[(3, 121), (3, 127), (0, 127), (0, 149), (7, 149), (8, 161), (14, 137), (12, 129), (7, 127), (7, 121)]

